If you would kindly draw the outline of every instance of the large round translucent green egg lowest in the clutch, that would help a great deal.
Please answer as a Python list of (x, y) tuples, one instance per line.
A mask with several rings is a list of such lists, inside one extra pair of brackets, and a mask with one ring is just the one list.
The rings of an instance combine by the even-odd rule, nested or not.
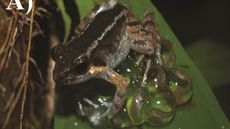
[(176, 102), (168, 91), (156, 92), (148, 96), (142, 108), (143, 119), (152, 126), (169, 123), (175, 116)]

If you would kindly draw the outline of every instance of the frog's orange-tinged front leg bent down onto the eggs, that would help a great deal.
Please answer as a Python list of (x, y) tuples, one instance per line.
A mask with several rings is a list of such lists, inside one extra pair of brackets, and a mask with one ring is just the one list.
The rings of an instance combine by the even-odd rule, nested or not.
[(92, 66), (89, 73), (94, 75), (96, 78), (104, 79), (116, 86), (113, 105), (108, 114), (108, 118), (111, 119), (119, 112), (125, 103), (128, 82), (113, 69), (104, 66)]

